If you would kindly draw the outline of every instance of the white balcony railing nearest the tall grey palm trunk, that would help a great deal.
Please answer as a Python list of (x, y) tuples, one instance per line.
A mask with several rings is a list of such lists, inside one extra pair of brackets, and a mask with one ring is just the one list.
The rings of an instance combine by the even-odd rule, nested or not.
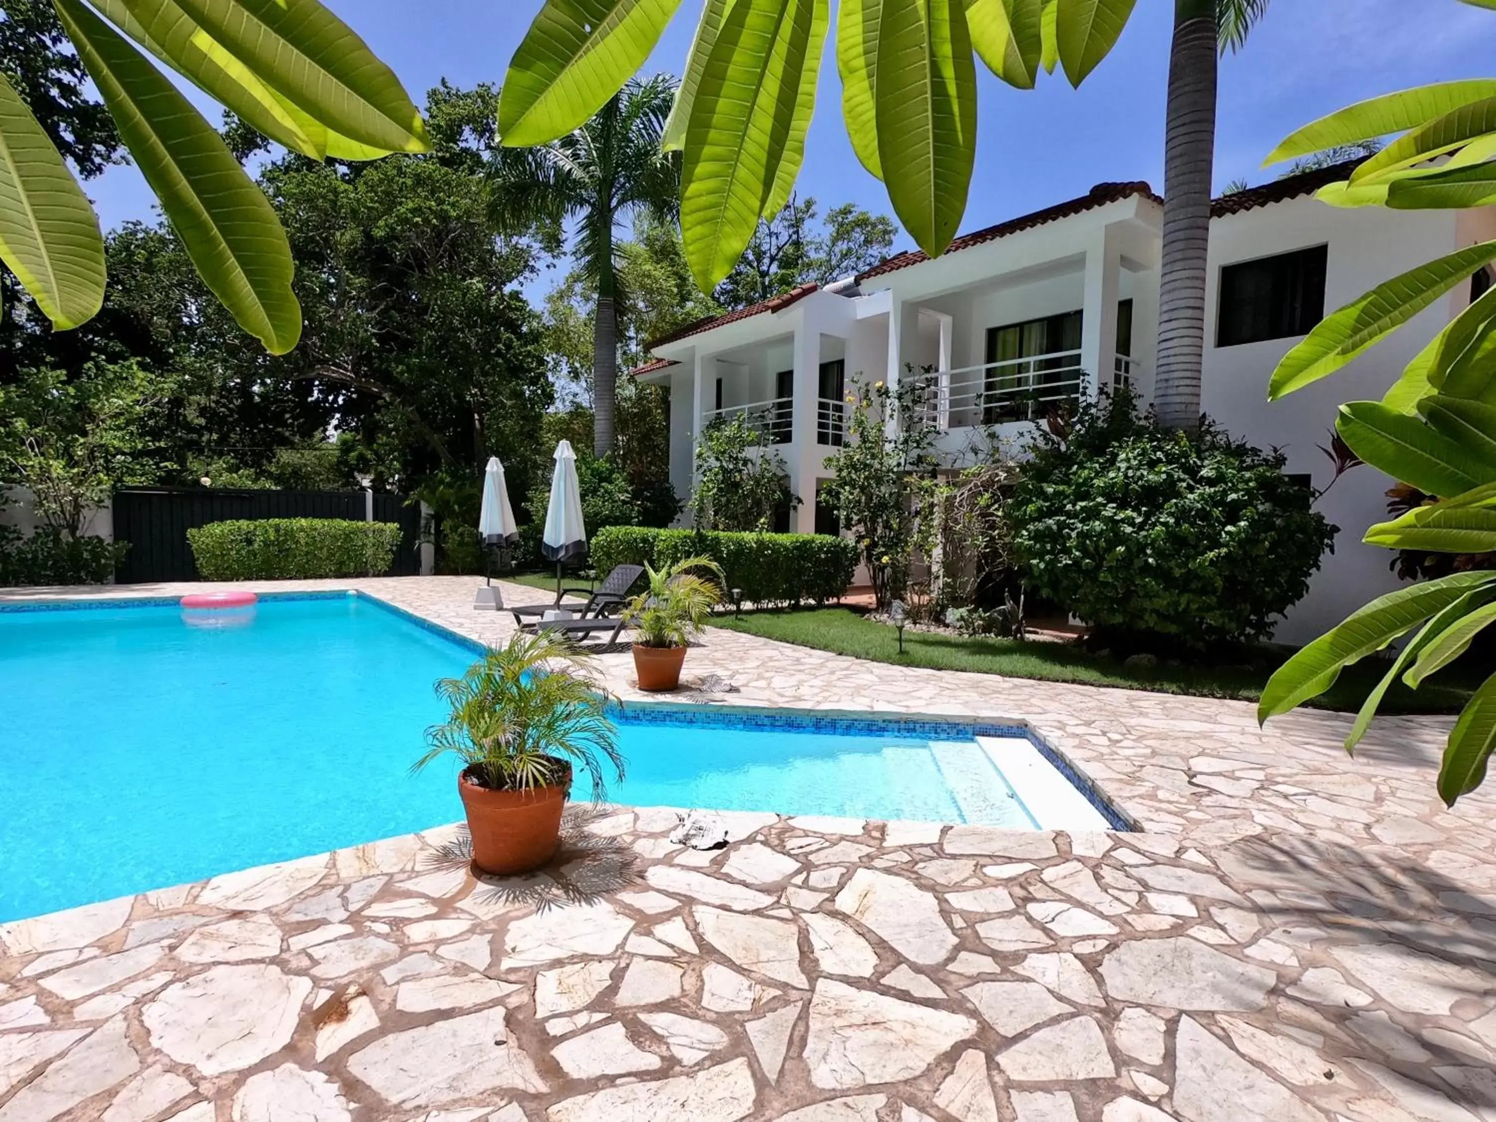
[(939, 429), (1043, 420), (1059, 405), (1074, 405), (1086, 390), (1079, 350), (929, 375), (929, 417)]

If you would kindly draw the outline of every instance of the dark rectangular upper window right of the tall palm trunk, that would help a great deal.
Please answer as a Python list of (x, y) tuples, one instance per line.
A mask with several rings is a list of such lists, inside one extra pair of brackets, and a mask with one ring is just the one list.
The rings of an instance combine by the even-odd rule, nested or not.
[(1308, 335), (1324, 319), (1328, 259), (1330, 247), (1315, 245), (1224, 266), (1216, 346)]

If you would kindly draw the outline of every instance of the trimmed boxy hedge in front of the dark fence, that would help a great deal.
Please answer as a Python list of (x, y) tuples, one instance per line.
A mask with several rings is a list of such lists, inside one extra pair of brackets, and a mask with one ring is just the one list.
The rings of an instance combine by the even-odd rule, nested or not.
[(399, 527), (341, 518), (209, 522), (187, 531), (203, 580), (378, 576), (395, 562)]

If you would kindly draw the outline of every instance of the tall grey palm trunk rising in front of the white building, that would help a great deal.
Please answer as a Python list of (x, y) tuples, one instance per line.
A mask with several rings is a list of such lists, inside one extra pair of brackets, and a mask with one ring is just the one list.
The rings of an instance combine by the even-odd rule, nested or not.
[(1200, 423), (1206, 254), (1215, 172), (1216, 66), (1267, 13), (1269, 0), (1174, 0), (1164, 138), (1164, 259), (1153, 402), (1170, 428)]

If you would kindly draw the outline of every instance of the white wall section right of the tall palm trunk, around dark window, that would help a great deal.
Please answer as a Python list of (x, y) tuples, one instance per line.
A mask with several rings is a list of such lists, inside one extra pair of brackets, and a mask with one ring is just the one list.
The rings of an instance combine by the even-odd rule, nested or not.
[[(1336, 209), (1303, 197), (1212, 223), (1201, 386), (1204, 411), (1231, 434), (1258, 447), (1281, 447), (1288, 456), (1288, 471), (1310, 474), (1316, 489), (1333, 476), (1330, 459), (1319, 447), (1330, 444), (1340, 402), (1381, 398), (1403, 367), (1466, 305), (1469, 292), (1468, 286), (1459, 286), (1448, 301), (1426, 308), (1346, 368), (1270, 402), (1269, 377), (1302, 337), (1216, 347), (1221, 268), (1325, 244), (1328, 314), (1367, 289), (1457, 248), (1456, 220), (1441, 211), (1391, 217), (1373, 208)], [(1367, 600), (1399, 586), (1388, 568), (1391, 551), (1361, 543), (1366, 528), (1385, 519), (1385, 492), (1391, 485), (1391, 479), (1363, 465), (1345, 474), (1319, 501), (1316, 509), (1340, 527), (1334, 554), (1325, 555), (1310, 582), (1309, 595), (1290, 609), (1275, 633), (1276, 639), (1306, 643)]]

